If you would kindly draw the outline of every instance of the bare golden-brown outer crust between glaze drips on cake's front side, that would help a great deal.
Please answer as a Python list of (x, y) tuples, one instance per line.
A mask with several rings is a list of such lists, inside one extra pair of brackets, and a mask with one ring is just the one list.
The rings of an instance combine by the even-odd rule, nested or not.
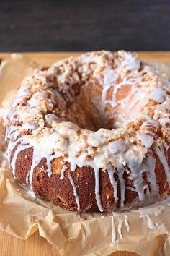
[[(27, 173), (30, 170), (30, 166), (32, 164), (32, 150), (28, 149), (19, 153), (16, 163), (16, 176), (20, 183), (25, 184)], [(25, 155), (27, 155), (27, 161), (24, 161)], [(168, 150), (168, 157), (170, 159), (170, 150)], [(156, 158), (156, 181), (159, 187), (159, 195), (161, 197), (165, 197), (169, 195), (169, 186), (166, 181), (166, 174), (164, 172), (164, 168), (161, 162), (158, 160), (158, 157), (154, 155)], [(92, 211), (98, 210), (97, 202), (95, 198), (95, 178), (94, 171), (90, 166), (84, 166), (82, 168), (77, 168), (76, 171), (65, 172), (65, 179), (61, 180), (60, 175), (52, 174), (50, 178), (48, 174), (44, 171), (40, 171), (40, 168), (47, 168), (45, 164), (45, 158), (40, 161), (40, 164), (35, 168), (33, 175), (32, 188), (35, 192), (35, 195), (41, 197), (45, 200), (51, 200), (55, 203), (55, 205), (61, 206), (63, 208), (68, 208), (69, 210), (77, 210), (76, 200), (73, 195), (73, 187), (71, 186), (68, 175), (71, 174), (73, 177), (73, 182), (76, 185), (77, 193), (79, 195), (79, 202), (81, 205), (81, 211)], [(170, 164), (170, 162), (169, 162)], [(69, 166), (69, 164), (68, 164)], [(53, 161), (53, 167), (55, 168), (55, 161)], [(125, 184), (129, 189), (125, 189), (125, 205), (130, 204), (138, 197), (138, 192), (131, 191), (130, 187), (133, 187), (133, 182), (128, 179), (128, 175), (125, 174)], [(109, 176), (107, 171), (100, 171), (99, 173), (100, 180), (100, 195), (102, 198), (102, 206), (104, 211), (110, 212), (117, 208), (120, 208), (120, 181), (118, 176), (115, 174), (115, 180), (117, 181), (117, 205), (114, 204), (113, 197), (113, 188), (110, 183)], [(151, 202), (148, 202), (150, 204)], [(139, 207), (135, 205), (135, 208)], [(147, 205), (147, 202), (145, 203)], [(130, 205), (129, 205), (130, 206)], [(142, 205), (141, 205), (142, 206)]]

